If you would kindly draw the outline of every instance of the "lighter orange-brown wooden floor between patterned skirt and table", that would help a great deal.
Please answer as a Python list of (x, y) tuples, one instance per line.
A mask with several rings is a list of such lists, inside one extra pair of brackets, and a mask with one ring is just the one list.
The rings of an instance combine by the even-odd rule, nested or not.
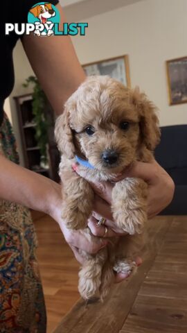
[(39, 242), (37, 257), (46, 300), (47, 333), (51, 333), (79, 298), (79, 265), (55, 221), (43, 216), (35, 219), (35, 228)]

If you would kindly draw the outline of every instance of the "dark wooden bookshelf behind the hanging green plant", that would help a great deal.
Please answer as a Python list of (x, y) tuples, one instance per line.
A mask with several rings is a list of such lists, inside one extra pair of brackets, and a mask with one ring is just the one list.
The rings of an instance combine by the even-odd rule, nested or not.
[(46, 105), (45, 114), (50, 126), (48, 127), (48, 163), (41, 165), (41, 153), (35, 139), (35, 122), (32, 108), (32, 94), (15, 96), (17, 107), (19, 133), (21, 136), (21, 148), (24, 155), (24, 166), (27, 169), (42, 174), (55, 181), (59, 181), (57, 174), (60, 156), (54, 139), (54, 114), (51, 105)]

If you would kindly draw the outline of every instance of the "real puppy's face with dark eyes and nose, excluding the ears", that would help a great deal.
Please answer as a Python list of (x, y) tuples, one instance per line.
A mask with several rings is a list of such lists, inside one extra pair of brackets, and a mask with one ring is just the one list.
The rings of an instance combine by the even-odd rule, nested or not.
[(71, 117), (76, 146), (96, 169), (118, 172), (135, 158), (139, 118), (127, 101), (113, 99), (107, 89), (99, 99), (91, 95), (87, 94), (90, 108), (82, 106)]

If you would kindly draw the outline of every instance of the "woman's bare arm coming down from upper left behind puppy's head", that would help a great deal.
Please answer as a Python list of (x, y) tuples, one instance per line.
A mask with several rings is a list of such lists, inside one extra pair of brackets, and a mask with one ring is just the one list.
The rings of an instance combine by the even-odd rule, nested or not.
[[(60, 4), (61, 24), (65, 22)], [(85, 74), (76, 56), (69, 36), (37, 37), (24, 36), (24, 49), (30, 65), (41, 83), (48, 101), (56, 114), (61, 114), (63, 105), (78, 86)]]

